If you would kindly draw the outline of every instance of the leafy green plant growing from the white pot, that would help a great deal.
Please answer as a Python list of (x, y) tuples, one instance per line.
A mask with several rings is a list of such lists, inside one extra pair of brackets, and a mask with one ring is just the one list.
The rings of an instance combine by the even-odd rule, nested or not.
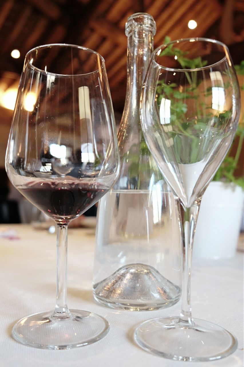
[[(165, 37), (164, 43), (169, 43), (170, 38)], [(160, 56), (177, 56), (177, 61), (180, 63), (182, 68), (199, 68), (202, 66), (205, 66), (207, 61), (203, 61), (201, 57), (195, 58), (195, 59), (189, 59), (186, 57), (187, 52), (183, 52), (179, 50), (176, 47), (173, 47), (173, 44), (164, 49)], [(240, 63), (240, 65), (236, 65), (236, 72), (239, 75), (244, 75), (244, 61)], [(206, 132), (205, 136), (208, 136), (207, 129), (208, 129), (208, 120), (209, 116), (207, 111), (208, 108), (211, 108), (211, 106), (206, 106), (205, 103), (201, 103), (200, 98), (200, 92), (199, 92), (199, 85), (201, 84), (201, 81), (197, 81), (195, 79), (196, 73), (186, 72), (186, 78), (189, 82), (189, 88), (185, 90), (185, 93), (182, 94), (176, 87), (174, 83), (165, 83), (164, 80), (158, 81), (158, 86), (156, 90), (157, 94), (157, 103), (158, 107), (160, 107), (161, 101), (163, 97), (169, 98), (171, 100), (170, 105), (170, 119), (171, 122), (174, 123), (174, 131), (169, 132), (171, 137), (173, 139), (178, 139), (180, 136), (180, 139), (177, 141), (177, 148), (178, 151), (175, 151), (175, 154), (177, 155), (177, 161), (182, 160), (182, 149), (181, 149), (181, 139), (182, 137), (185, 139), (191, 139), (192, 146), (194, 146), (194, 143), (197, 146), (197, 136), (199, 135), (199, 131)], [(228, 86), (225, 86), (228, 88)], [(240, 86), (241, 90), (244, 90), (244, 83), (242, 86)], [(204, 91), (205, 97), (210, 95), (212, 93), (212, 87), (207, 88), (207, 90)], [(196, 119), (194, 116), (192, 118), (187, 119), (187, 123), (185, 122), (185, 114), (188, 110), (188, 106), (185, 103), (187, 99), (195, 99), (197, 109), (199, 111), (198, 116), (202, 116)], [(224, 111), (222, 113), (219, 113), (218, 116), (215, 117), (215, 123), (216, 124), (222, 124), (228, 119), (229, 111)], [(239, 126), (237, 128), (236, 136), (234, 141), (239, 139), (236, 154), (234, 157), (230, 156), (231, 148), (229, 149), (228, 154), (226, 155), (225, 159), (223, 160), (221, 166), (219, 167), (218, 171), (216, 172), (214, 176), (214, 181), (225, 181), (225, 182), (233, 182), (237, 185), (244, 188), (244, 178), (243, 177), (235, 177), (234, 171), (236, 168), (238, 168), (238, 162), (240, 158), (241, 148), (243, 145), (243, 139), (244, 139), (244, 115), (240, 117)], [(207, 141), (206, 141), (207, 144)], [(233, 146), (233, 144), (232, 144)], [(185, 151), (186, 157), (188, 156), (188, 161), (184, 159), (183, 163), (194, 163), (196, 162), (199, 157), (197, 155), (197, 150), (190, 149), (189, 152)], [(189, 154), (188, 154), (189, 153)]]

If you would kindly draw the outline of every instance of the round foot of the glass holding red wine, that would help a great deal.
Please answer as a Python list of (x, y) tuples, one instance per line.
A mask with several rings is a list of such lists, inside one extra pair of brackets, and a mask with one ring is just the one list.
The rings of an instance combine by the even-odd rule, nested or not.
[(53, 312), (24, 317), (13, 327), (12, 336), (22, 344), (42, 349), (71, 349), (92, 344), (109, 330), (106, 319), (95, 313), (70, 310), (71, 316), (53, 318)]

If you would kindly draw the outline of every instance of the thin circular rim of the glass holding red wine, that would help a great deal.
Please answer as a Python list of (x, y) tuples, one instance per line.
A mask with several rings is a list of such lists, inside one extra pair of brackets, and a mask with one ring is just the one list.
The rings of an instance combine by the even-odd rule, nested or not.
[[(24, 64), (26, 64), (27, 58), (31, 54), (31, 52), (33, 52), (35, 50), (39, 50), (39, 49), (51, 48), (53, 46), (70, 47), (70, 48), (80, 48), (80, 50), (89, 51), (90, 53), (99, 56), (99, 58), (101, 59), (101, 63), (103, 65), (103, 68), (105, 66), (105, 60), (104, 60), (104, 58), (98, 52), (96, 52), (96, 51), (94, 51), (94, 50), (92, 50), (91, 48), (88, 48), (88, 47), (79, 46), (79, 45), (70, 44), (70, 43), (48, 43), (48, 44), (43, 44), (43, 45), (40, 45), (40, 46), (37, 46), (37, 47), (33, 47), (25, 55), (25, 63)], [(31, 66), (32, 69), (41, 71), (42, 73), (45, 73), (47, 75), (58, 75), (58, 76), (67, 76), (67, 77), (70, 77), (70, 76), (76, 77), (76, 76), (91, 75), (91, 74), (95, 74), (95, 73), (97, 73), (99, 71), (99, 68), (98, 68), (98, 69), (96, 69), (96, 70), (94, 70), (92, 72), (83, 73), (83, 74), (59, 74), (59, 73), (48, 72), (48, 71), (45, 71), (43, 69), (37, 68), (37, 66), (34, 66), (34, 65), (32, 65), (32, 63), (30, 63), (30, 60), (28, 60), (28, 65)]]

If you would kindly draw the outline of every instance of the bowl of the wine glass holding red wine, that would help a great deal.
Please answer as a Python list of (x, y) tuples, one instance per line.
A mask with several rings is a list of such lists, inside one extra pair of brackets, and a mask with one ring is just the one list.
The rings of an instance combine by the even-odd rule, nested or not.
[[(53, 65), (53, 54), (58, 57), (57, 65)], [(59, 59), (64, 57), (68, 65), (63, 72), (72, 71), (70, 75), (60, 74)], [(94, 70), (90, 73), (81, 61), (88, 57)], [(50, 70), (57, 67), (58, 73), (48, 71), (48, 62)], [(109, 130), (111, 103), (106, 82), (103, 60), (81, 47), (50, 45), (26, 56), (6, 168), (16, 188), (60, 224), (92, 206), (116, 178), (116, 140), (111, 139), (112, 125)], [(27, 105), (30, 96), (31, 106)], [(76, 197), (67, 191), (62, 200), (75, 204), (56, 208), (60, 190), (66, 187), (64, 180)], [(81, 192), (81, 186), (87, 187)], [(58, 188), (51, 200), (51, 191)], [(84, 201), (85, 190), (93, 193)]]

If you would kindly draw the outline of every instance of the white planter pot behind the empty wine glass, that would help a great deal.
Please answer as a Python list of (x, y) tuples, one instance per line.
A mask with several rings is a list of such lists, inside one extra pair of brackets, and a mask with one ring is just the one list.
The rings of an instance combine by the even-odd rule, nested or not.
[(233, 183), (210, 182), (199, 210), (193, 258), (231, 258), (243, 214), (243, 190)]

